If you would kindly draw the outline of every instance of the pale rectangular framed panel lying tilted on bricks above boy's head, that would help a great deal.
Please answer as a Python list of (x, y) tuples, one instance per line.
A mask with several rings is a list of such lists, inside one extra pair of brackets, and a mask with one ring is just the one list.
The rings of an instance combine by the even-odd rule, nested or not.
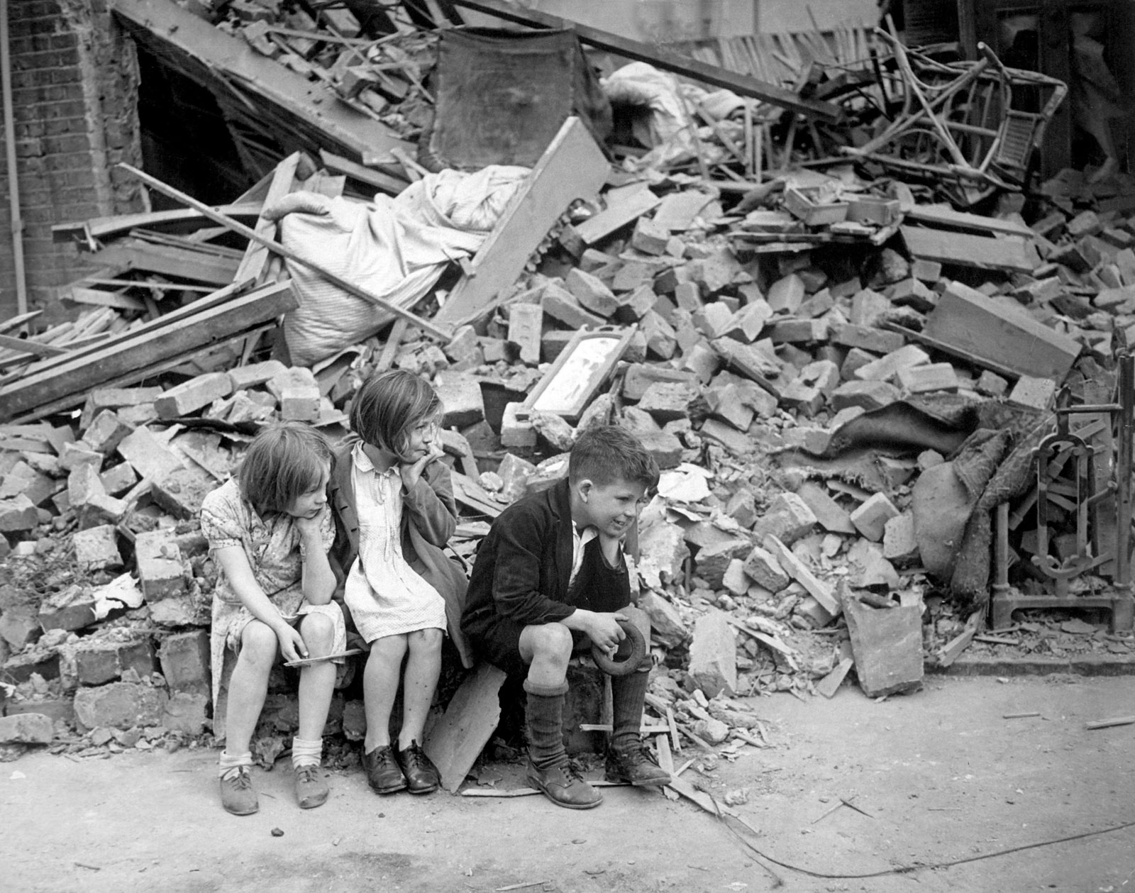
[(604, 327), (594, 331), (585, 328), (575, 332), (528, 395), (520, 407), (521, 418), (547, 412), (562, 415), (574, 424), (595, 391), (611, 376), (633, 334), (634, 327)]

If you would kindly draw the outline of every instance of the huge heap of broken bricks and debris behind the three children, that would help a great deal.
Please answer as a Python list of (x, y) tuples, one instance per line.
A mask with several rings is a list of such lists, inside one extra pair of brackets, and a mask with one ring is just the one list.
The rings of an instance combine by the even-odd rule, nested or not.
[[(402, 44), (368, 50), (364, 71), (346, 31), (347, 50), (305, 53), (287, 31), (294, 20), (242, 0), (228, 8), (262, 52), (326, 66), (371, 113), (420, 93), (421, 66), (395, 52)], [(729, 148), (721, 126), (698, 138)], [(351, 200), (342, 177), (317, 168), (303, 160), (299, 191)], [(924, 663), (948, 665), (975, 637), (1007, 645), (977, 635), (984, 600), (951, 581), (953, 564), (985, 482), (1051, 419), (1058, 389), (1110, 399), (1113, 342), (1135, 335), (1135, 182), (1065, 171), (1027, 200), (1007, 194), (976, 213), (872, 162), (827, 171), (721, 188), (667, 163), (624, 165), (602, 195), (554, 209), (566, 225), (554, 238), (529, 234), (526, 271), (456, 320), (448, 340), (402, 319), (306, 368), (278, 359), (281, 339), (274, 347), (261, 329), (227, 332), (222, 347), (207, 339), (144, 380), (100, 381), (82, 396), (73, 382), (53, 402), (3, 410), (0, 743), (83, 753), (204, 734), (217, 568), (197, 525), (202, 496), (263, 423), (296, 419), (345, 436), (355, 389), (389, 365), (429, 378), (444, 403), (462, 512), (452, 546), (466, 561), (504, 506), (566, 474), (579, 430), (614, 422), (647, 445), (663, 475), (639, 521), (638, 604), (666, 669), (649, 722), (674, 749), (683, 739), (767, 747), (738, 697), (832, 697), (852, 666), (865, 692), (885, 697), (919, 685)], [(251, 197), (247, 213), (262, 221), (264, 196)], [(138, 238), (115, 242), (119, 233), (131, 230), (104, 231), (100, 254)], [(215, 236), (202, 226), (177, 247), (194, 245), (213, 266), (224, 258), (232, 283), (244, 261), (209, 247)], [(109, 331), (160, 317), (154, 289), (178, 294), (168, 280), (120, 275), (102, 277), (109, 289), (82, 286), (120, 298), (99, 311)], [(258, 281), (287, 292), (278, 264)], [(435, 320), (461, 287), (431, 293)], [(76, 288), (65, 304), (82, 304)], [(197, 295), (182, 289), (178, 312)], [(604, 336), (595, 344), (606, 353), (580, 361), (589, 334)], [(42, 363), (25, 371), (50, 379), (56, 367)], [(12, 380), (0, 381), (0, 399)], [(564, 391), (572, 408), (541, 408)], [(1084, 429), (1092, 443), (1110, 433)], [(997, 437), (975, 481), (962, 463)], [(1014, 583), (1044, 587), (1028, 561), (1029, 488), (1007, 498), (1019, 514)], [(1058, 555), (1076, 547), (1066, 502), (1050, 519)], [(989, 539), (980, 544), (987, 554)], [(1086, 574), (1077, 585), (1105, 581)], [(1010, 639), (1043, 632), (1029, 624)], [(1087, 641), (1130, 648), (1129, 637)], [(261, 719), (268, 736), (294, 718), (287, 679), (277, 682)], [(20, 718), (30, 715), (47, 722)], [(358, 736), (360, 716), (337, 694), (329, 732)]]

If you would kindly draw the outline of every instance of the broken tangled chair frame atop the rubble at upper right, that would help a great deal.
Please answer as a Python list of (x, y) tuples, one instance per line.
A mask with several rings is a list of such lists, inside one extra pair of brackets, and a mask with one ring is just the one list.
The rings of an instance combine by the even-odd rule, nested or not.
[[(1061, 81), (982, 59), (943, 64), (876, 30), (893, 53), (901, 111), (883, 133), (843, 146), (900, 175), (935, 182), (959, 205), (995, 189), (1019, 191), (1033, 150), (1068, 89)], [(1033, 109), (1032, 106), (1039, 108)]]

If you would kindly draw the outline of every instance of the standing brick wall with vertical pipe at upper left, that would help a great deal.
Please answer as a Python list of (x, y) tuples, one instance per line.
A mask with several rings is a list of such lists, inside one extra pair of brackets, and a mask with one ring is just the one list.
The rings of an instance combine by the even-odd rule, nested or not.
[[(90, 266), (51, 225), (145, 210), (141, 187), (112, 170), (141, 166), (137, 64), (106, 0), (9, 0), (16, 169), (28, 305)], [(0, 144), (3, 130), (0, 129)], [(0, 152), (0, 320), (16, 313), (7, 146)]]

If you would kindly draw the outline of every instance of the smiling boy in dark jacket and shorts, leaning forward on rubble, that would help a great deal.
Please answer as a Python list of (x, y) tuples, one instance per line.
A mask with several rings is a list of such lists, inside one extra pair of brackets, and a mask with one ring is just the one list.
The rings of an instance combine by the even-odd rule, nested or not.
[[(646, 614), (630, 606), (623, 555), (658, 465), (628, 431), (583, 431), (568, 479), (513, 504), (493, 522), (469, 581), (462, 629), (489, 660), (524, 676), (528, 780), (552, 802), (590, 809), (603, 795), (569, 763), (563, 742), (568, 662), (595, 643), (614, 656), (632, 622), (650, 641)], [(670, 781), (640, 736), (650, 662), (612, 676), (613, 730), (608, 781)]]

